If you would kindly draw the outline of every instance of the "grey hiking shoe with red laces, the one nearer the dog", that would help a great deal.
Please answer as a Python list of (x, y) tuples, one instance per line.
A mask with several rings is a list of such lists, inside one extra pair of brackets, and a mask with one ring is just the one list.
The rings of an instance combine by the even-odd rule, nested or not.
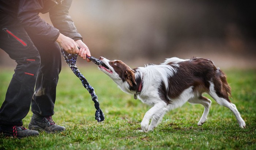
[(66, 130), (65, 127), (57, 125), (52, 116), (39, 116), (33, 114), (29, 123), (30, 130), (45, 131), (47, 133), (56, 133)]

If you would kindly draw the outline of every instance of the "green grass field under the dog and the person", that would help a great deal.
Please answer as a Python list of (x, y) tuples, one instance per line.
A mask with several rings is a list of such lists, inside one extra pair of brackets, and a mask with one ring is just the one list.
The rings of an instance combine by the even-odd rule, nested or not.
[[(53, 119), (66, 127), (58, 134), (40, 132), (23, 139), (0, 136), (0, 149), (256, 149), (256, 70), (225, 70), (246, 128), (241, 129), (233, 113), (212, 100), (208, 120), (198, 127), (202, 105), (186, 103), (168, 112), (154, 131), (139, 132), (150, 106), (128, 95), (95, 66), (79, 66), (94, 87), (105, 121), (94, 120), (89, 93), (69, 68), (63, 68), (57, 87)], [(3, 103), (13, 70), (1, 68), (0, 103)], [(208, 96), (208, 95), (206, 95)], [(209, 96), (208, 96), (209, 97)], [(27, 127), (32, 113), (23, 119)]]

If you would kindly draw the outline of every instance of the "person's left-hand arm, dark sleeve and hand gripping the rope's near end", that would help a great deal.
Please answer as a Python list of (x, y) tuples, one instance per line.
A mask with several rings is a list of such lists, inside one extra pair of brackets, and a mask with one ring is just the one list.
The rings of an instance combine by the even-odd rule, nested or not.
[(27, 30), (33, 31), (36, 35), (41, 35), (42, 41), (57, 41), (68, 53), (79, 53), (78, 44), (73, 39), (64, 37), (57, 28), (39, 17), (38, 14), (42, 8), (44, 8), (43, 0), (20, 0), (18, 8), (19, 22)]

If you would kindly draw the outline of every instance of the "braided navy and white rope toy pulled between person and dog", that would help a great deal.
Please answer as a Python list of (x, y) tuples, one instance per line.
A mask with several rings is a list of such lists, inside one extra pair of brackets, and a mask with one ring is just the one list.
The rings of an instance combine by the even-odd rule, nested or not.
[[(80, 49), (80, 47), (79, 47), (79, 49)], [(61, 53), (64, 57), (65, 62), (67, 62), (69, 68), (71, 68), (73, 73), (82, 81), (84, 88), (86, 88), (87, 91), (90, 93), (91, 99), (94, 102), (94, 107), (97, 109), (95, 112), (95, 120), (97, 120), (98, 122), (102, 122), (105, 119), (105, 115), (99, 108), (98, 97), (95, 94), (93, 87), (89, 84), (89, 82), (86, 80), (86, 78), (83, 76), (83, 74), (80, 73), (80, 71), (78, 70), (78, 68), (76, 66), (76, 59), (78, 57), (78, 54), (69, 54), (64, 49), (61, 49)], [(91, 57), (86, 56), (86, 57), (89, 58), (96, 65), (103, 64), (102, 61), (100, 61), (99, 59), (96, 59), (92, 56)]]

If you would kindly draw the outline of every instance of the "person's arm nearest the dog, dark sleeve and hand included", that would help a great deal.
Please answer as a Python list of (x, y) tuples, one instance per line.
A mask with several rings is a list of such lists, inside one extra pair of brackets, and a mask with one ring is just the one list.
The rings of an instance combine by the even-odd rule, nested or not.
[[(82, 36), (78, 33), (74, 22), (69, 16), (68, 10), (71, 6), (71, 3), (72, 0), (64, 0), (61, 5), (56, 5), (56, 7), (49, 11), (50, 19), (53, 23), (53, 26), (58, 28), (61, 34), (75, 40), (77, 45), (81, 47), (81, 49), (78, 51), (78, 55), (83, 59), (86, 59), (86, 55), (89, 57), (91, 56), (90, 50), (83, 43)], [(87, 61), (90, 62), (90, 59), (87, 59)]]

